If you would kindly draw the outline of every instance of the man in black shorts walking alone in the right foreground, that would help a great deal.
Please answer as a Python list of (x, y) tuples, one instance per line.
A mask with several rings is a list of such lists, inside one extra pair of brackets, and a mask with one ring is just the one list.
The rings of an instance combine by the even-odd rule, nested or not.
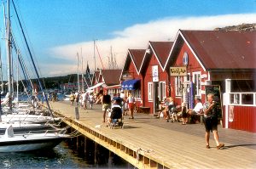
[(217, 107), (215, 102), (213, 101), (214, 94), (207, 94), (207, 103), (203, 105), (204, 110), (204, 122), (206, 127), (206, 142), (207, 149), (210, 149), (209, 139), (210, 139), (210, 131), (213, 132), (213, 136), (217, 145), (217, 149), (223, 148), (224, 144), (219, 143), (218, 141), (218, 115), (217, 115)]

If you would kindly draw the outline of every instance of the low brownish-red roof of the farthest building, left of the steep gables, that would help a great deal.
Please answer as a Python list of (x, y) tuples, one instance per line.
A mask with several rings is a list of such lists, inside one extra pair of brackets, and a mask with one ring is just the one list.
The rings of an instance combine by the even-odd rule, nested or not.
[(120, 84), (119, 76), (122, 70), (102, 70), (102, 79), (107, 86)]

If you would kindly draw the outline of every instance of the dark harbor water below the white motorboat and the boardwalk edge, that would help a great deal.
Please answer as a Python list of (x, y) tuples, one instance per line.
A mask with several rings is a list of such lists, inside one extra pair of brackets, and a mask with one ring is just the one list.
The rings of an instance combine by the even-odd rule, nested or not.
[[(104, 149), (104, 148), (103, 148)], [(133, 168), (126, 161), (109, 151), (108, 155), (91, 155), (73, 149), (68, 142), (62, 142), (54, 149), (32, 152), (0, 153), (0, 168)], [(93, 158), (91, 158), (93, 157)], [(96, 157), (96, 158), (95, 158)], [(98, 159), (96, 161), (96, 159)]]

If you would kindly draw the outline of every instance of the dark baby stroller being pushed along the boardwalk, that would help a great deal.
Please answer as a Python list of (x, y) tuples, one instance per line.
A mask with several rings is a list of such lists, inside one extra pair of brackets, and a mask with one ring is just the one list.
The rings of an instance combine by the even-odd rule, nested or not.
[(124, 127), (124, 122), (122, 121), (122, 108), (114, 104), (111, 110), (108, 110), (109, 119), (108, 119), (108, 127), (113, 129), (113, 127)]

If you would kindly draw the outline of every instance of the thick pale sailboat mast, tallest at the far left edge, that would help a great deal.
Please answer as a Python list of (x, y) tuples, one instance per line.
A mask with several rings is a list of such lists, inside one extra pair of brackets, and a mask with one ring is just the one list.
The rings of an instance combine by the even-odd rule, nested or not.
[(6, 48), (8, 62), (8, 91), (9, 91), (9, 111), (12, 110), (12, 73), (11, 73), (11, 51), (10, 51), (10, 29), (9, 29), (9, 0), (7, 1), (7, 25), (6, 25)]

